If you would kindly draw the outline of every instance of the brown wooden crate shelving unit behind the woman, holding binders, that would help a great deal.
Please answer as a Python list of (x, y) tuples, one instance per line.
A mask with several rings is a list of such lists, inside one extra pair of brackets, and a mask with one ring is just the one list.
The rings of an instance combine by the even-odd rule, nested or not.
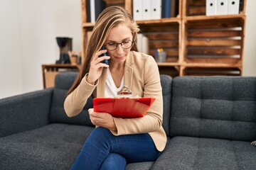
[[(88, 33), (94, 24), (87, 23), (86, 1), (82, 8), (82, 54)], [(132, 0), (105, 0), (132, 13)], [(206, 0), (177, 0), (178, 15), (159, 20), (137, 21), (149, 38), (149, 55), (154, 49), (166, 50), (166, 62), (159, 62), (160, 74), (242, 75), (245, 42), (246, 0), (240, 0), (239, 14), (206, 16)]]

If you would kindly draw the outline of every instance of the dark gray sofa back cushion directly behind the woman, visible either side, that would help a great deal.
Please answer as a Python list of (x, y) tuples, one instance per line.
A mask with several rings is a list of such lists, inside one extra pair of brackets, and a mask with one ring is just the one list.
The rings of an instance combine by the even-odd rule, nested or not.
[[(57, 74), (55, 77), (55, 88), (53, 92), (53, 101), (50, 110), (50, 123), (69, 123), (76, 125), (89, 125), (94, 126), (90, 122), (88, 109), (92, 108), (92, 97), (90, 97), (82, 110), (82, 113), (73, 118), (69, 118), (63, 108), (65, 96), (68, 89), (72, 86), (78, 73), (76, 72), (63, 72)], [(164, 120), (163, 126), (166, 134), (169, 135), (169, 120), (170, 120), (170, 101), (171, 101), (171, 77), (161, 75), (161, 86), (163, 89), (164, 98)]]

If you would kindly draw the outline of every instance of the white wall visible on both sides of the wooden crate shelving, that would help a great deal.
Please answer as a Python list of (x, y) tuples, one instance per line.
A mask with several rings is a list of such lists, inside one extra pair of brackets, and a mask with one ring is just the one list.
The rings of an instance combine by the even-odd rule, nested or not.
[[(247, 0), (243, 76), (256, 76), (255, 6)], [(81, 49), (80, 0), (0, 1), (0, 98), (43, 89), (41, 64), (58, 60), (58, 36)]]

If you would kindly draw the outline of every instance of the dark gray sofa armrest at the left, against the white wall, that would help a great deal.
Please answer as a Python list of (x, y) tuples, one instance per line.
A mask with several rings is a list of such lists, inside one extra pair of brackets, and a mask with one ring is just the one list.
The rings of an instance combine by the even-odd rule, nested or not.
[(0, 99), (0, 137), (49, 123), (53, 89)]

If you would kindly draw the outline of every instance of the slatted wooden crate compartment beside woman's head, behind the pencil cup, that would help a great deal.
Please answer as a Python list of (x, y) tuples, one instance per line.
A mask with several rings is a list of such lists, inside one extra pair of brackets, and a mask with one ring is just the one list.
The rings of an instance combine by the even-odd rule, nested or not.
[[(160, 26), (159, 26), (160, 25)], [(143, 23), (139, 24), (141, 33), (149, 38), (149, 55), (155, 56), (154, 50), (163, 48), (166, 51), (166, 62), (178, 62), (180, 47), (180, 23)]]

